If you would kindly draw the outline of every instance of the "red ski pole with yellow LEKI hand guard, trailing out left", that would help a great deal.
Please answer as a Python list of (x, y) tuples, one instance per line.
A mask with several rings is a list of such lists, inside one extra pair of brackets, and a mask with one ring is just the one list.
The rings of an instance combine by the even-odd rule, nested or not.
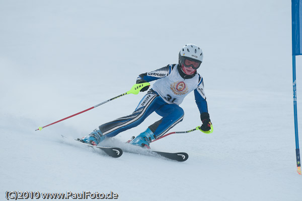
[[(55, 122), (53, 122), (53, 123), (50, 123), (50, 124), (48, 124), (48, 125), (41, 126), (41, 127), (39, 127), (38, 129), (36, 129), (36, 130), (42, 130), (42, 128), (45, 128), (45, 127), (47, 127), (47, 126), (50, 126), (50, 125), (53, 125), (53, 124), (58, 123), (58, 122), (60, 122), (60, 121), (63, 121), (63, 120), (65, 120), (65, 119), (68, 119), (68, 118), (70, 118), (70, 117), (72, 117), (72, 116), (76, 116), (76, 115), (78, 115), (78, 114), (81, 114), (81, 113), (86, 112), (86, 111), (88, 111), (88, 110), (91, 110), (91, 109), (93, 109), (93, 108), (96, 108), (96, 107), (98, 107), (98, 106), (100, 106), (100, 105), (103, 105), (104, 103), (107, 103), (107, 102), (109, 102), (109, 101), (112, 101), (112, 100), (114, 100), (114, 99), (117, 99), (117, 98), (119, 98), (119, 97), (122, 97), (122, 96), (124, 96), (124, 95), (126, 95), (126, 94), (138, 94), (139, 91), (140, 91), (142, 88), (146, 87), (146, 86), (150, 86), (150, 83), (146, 82), (146, 83), (135, 84), (135, 85), (133, 85), (132, 88), (131, 88), (129, 91), (127, 91), (126, 93), (123, 93), (123, 94), (121, 94), (121, 95), (119, 95), (119, 96), (116, 96), (116, 97), (114, 97), (114, 98), (111, 98), (111, 99), (109, 99), (109, 100), (106, 100), (106, 101), (104, 101), (104, 102), (102, 102), (102, 103), (99, 103), (99, 104), (93, 106), (93, 107), (90, 107), (90, 108), (88, 108), (88, 109), (86, 109), (86, 110), (83, 110), (83, 111), (81, 111), (81, 112), (78, 112), (78, 113), (76, 113), (76, 114), (72, 114), (72, 115), (70, 115), (70, 116), (67, 116), (66, 118), (60, 119), (60, 120), (55, 121)], [(35, 130), (35, 131), (36, 131), (36, 130)]]

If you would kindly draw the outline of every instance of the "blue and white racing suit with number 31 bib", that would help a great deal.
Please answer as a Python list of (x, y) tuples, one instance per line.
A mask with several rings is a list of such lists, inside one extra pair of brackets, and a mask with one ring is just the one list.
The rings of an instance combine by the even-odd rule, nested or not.
[(155, 81), (152, 89), (138, 103), (134, 112), (99, 126), (105, 137), (139, 125), (149, 114), (156, 112), (163, 118), (149, 126), (155, 138), (163, 136), (169, 129), (182, 121), (184, 111), (179, 106), (186, 95), (194, 90), (195, 102), (200, 113), (208, 112), (204, 95), (203, 79), (198, 73), (185, 75), (178, 64), (169, 64), (153, 72), (138, 76), (137, 80)]

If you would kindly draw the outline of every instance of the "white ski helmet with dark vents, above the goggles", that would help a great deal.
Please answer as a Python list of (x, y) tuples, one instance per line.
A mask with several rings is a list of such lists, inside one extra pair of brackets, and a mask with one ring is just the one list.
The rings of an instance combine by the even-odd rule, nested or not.
[[(194, 44), (186, 44), (181, 48), (179, 52), (179, 64), (182, 65), (184, 63), (184, 59), (188, 58), (189, 60), (202, 62), (203, 53), (201, 48)], [(199, 67), (199, 66), (198, 66)]]

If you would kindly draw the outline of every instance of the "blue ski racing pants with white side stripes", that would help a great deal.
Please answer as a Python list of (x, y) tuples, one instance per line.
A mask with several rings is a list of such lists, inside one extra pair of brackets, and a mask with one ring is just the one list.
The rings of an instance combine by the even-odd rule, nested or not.
[(160, 138), (169, 129), (183, 120), (184, 110), (176, 104), (168, 104), (152, 89), (141, 99), (135, 111), (128, 115), (99, 126), (106, 138), (139, 125), (148, 115), (156, 112), (163, 118), (149, 126), (155, 138)]

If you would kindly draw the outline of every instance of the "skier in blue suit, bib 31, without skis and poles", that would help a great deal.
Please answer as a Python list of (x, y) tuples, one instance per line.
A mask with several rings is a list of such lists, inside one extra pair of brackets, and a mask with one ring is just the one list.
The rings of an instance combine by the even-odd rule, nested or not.
[[(140, 74), (136, 83), (155, 81), (152, 89), (141, 99), (134, 112), (128, 116), (104, 123), (81, 142), (97, 146), (106, 138), (139, 125), (149, 114), (156, 112), (163, 118), (141, 132), (132, 145), (149, 148), (152, 140), (163, 136), (169, 129), (183, 120), (184, 110), (179, 106), (186, 95), (194, 90), (195, 102), (200, 111), (200, 129), (211, 129), (210, 116), (204, 94), (202, 77), (196, 72), (203, 59), (201, 48), (194, 44), (185, 45), (179, 52), (178, 64), (169, 64), (153, 72)], [(148, 90), (149, 86), (140, 91)]]

